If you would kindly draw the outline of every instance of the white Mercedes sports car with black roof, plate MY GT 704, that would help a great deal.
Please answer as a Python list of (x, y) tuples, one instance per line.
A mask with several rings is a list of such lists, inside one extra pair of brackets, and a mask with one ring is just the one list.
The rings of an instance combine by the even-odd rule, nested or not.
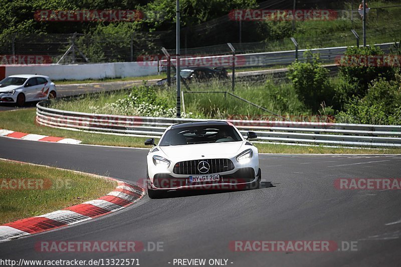
[[(257, 138), (248, 132), (247, 139)], [(147, 155), (150, 198), (177, 189), (243, 189), (261, 180), (258, 149), (231, 123), (205, 121), (175, 124)]]

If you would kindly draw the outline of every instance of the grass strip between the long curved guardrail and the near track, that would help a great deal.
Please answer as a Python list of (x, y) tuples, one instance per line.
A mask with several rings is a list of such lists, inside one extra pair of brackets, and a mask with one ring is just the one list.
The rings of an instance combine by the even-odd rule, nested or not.
[[(33, 134), (50, 135), (57, 137), (74, 138), (81, 140), (83, 144), (147, 147), (143, 144), (145, 137), (116, 136), (107, 134), (75, 132), (36, 125), (36, 110), (24, 109), (17, 111), (0, 112), (0, 129), (21, 131)], [(16, 123), (17, 122), (17, 123)], [(156, 139), (156, 143), (158, 139)], [(323, 146), (292, 146), (282, 144), (255, 143), (260, 153), (285, 153), (285, 154), (399, 154), (401, 149), (365, 149), (365, 148), (331, 148)], [(149, 147), (147, 147), (149, 148)]]

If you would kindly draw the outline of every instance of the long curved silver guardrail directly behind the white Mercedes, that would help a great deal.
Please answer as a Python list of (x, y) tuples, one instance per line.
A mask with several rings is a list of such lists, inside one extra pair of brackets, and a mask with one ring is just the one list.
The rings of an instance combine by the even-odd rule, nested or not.
[[(160, 137), (172, 124), (206, 121), (206, 119), (155, 118), (90, 114), (46, 107), (37, 104), (38, 124), (75, 131), (103, 134)], [(260, 142), (342, 145), (361, 147), (401, 147), (401, 125), (367, 125), (325, 122), (289, 122), (258, 120), (227, 120), (246, 136), (247, 131), (258, 134)]]

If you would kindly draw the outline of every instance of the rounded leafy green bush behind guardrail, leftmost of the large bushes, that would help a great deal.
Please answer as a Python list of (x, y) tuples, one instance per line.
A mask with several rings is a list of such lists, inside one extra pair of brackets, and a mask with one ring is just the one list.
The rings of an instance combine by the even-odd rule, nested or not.
[(316, 112), (325, 101), (331, 103), (333, 89), (328, 79), (329, 71), (322, 67), (319, 58), (306, 51), (306, 62), (296, 61), (288, 68), (288, 78), (305, 105)]

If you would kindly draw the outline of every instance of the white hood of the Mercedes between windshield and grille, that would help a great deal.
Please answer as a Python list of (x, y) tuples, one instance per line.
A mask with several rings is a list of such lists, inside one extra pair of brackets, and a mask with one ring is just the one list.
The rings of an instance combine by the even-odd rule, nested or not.
[(193, 144), (181, 146), (161, 146), (160, 150), (173, 161), (205, 158), (231, 157), (239, 154), (244, 142), (224, 142), (210, 144)]

